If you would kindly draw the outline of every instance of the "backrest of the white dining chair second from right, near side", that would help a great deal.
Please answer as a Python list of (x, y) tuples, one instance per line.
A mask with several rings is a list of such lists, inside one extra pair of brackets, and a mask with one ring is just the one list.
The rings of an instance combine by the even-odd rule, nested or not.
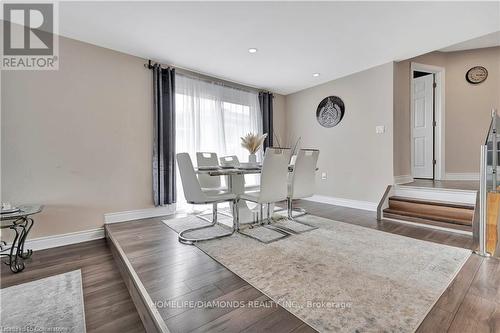
[(289, 148), (267, 148), (260, 175), (260, 201), (278, 202), (287, 197)]

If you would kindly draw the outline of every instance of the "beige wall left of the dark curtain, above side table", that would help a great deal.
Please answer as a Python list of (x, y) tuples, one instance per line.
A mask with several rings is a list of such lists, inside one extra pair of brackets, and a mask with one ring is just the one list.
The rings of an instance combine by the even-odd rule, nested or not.
[(152, 207), (144, 60), (60, 38), (58, 71), (2, 73), (2, 201), (46, 205), (31, 238)]

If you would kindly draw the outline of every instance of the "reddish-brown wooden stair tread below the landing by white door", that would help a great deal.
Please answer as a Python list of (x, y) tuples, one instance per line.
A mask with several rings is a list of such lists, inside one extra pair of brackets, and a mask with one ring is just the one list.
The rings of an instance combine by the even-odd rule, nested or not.
[(417, 214), (417, 216), (433, 216), (436, 218), (468, 221), (470, 223), (472, 223), (472, 219), (474, 217), (474, 210), (472, 209), (429, 205), (397, 200), (389, 200), (389, 208), (392, 210), (414, 213)]

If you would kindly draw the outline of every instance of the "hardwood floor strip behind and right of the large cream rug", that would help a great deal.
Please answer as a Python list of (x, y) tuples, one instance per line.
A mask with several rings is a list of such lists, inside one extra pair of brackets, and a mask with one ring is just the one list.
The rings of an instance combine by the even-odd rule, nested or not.
[[(304, 200), (296, 206), (313, 215), (367, 228), (450, 246), (473, 247), (471, 236), (393, 221), (379, 222), (374, 212)], [(472, 254), (417, 332), (500, 332), (500, 260)]]

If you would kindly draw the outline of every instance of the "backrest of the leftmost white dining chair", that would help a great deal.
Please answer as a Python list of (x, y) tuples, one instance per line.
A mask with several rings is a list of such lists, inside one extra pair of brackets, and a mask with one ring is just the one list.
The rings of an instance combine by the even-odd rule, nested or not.
[(188, 203), (204, 203), (206, 196), (201, 190), (200, 182), (194, 172), (193, 163), (188, 153), (177, 154), (177, 165), (181, 176), (184, 197)]

